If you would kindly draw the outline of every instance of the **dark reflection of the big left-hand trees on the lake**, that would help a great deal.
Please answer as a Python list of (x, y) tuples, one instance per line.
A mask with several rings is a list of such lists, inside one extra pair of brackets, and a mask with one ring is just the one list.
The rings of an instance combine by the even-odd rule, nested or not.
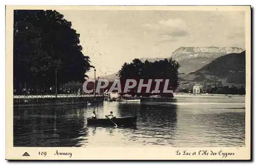
[(77, 146), (77, 137), (87, 135), (82, 114), (82, 109), (72, 106), (18, 109), (14, 111), (14, 145)]

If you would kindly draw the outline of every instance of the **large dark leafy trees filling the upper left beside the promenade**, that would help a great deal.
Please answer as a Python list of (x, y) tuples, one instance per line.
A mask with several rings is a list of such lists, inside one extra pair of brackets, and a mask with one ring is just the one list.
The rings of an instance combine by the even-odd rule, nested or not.
[(14, 89), (42, 88), (83, 81), (92, 67), (83, 56), (71, 22), (52, 10), (15, 10), (13, 34)]

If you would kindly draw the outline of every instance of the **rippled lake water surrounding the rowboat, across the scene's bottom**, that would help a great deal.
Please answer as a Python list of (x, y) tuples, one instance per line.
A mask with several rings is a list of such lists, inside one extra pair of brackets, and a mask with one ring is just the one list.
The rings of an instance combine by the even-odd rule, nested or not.
[[(137, 115), (134, 127), (87, 126), (99, 118)], [(170, 102), (102, 102), (87, 105), (14, 108), (14, 146), (245, 146), (245, 97), (175, 97)]]

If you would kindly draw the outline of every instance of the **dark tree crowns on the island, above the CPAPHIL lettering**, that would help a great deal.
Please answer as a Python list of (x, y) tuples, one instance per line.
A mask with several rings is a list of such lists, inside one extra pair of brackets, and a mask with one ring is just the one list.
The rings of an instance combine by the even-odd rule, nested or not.
[(169, 87), (176, 90), (179, 86), (178, 69), (180, 65), (173, 59), (142, 63), (134, 59), (132, 63), (124, 63), (118, 72), (120, 80), (124, 79), (169, 79)]

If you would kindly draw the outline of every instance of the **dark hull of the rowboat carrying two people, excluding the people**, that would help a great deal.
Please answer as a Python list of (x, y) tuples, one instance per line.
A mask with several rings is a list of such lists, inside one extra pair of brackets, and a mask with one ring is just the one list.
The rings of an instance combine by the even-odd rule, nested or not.
[[(87, 125), (104, 125), (104, 126), (118, 126), (134, 125), (136, 124), (137, 116), (124, 117), (124, 118), (102, 118), (102, 119), (87, 119)], [(115, 123), (115, 124), (114, 124)]]

